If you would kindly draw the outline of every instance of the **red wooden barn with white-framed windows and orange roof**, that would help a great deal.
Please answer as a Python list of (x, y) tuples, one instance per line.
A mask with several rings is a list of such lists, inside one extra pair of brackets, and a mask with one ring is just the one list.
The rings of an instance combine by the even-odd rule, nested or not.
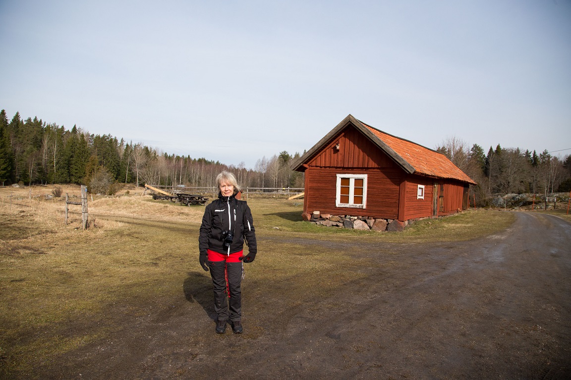
[[(350, 215), (399, 220), (468, 207), (468, 175), (444, 154), (345, 117), (293, 162), (305, 171), (304, 217)], [(352, 218), (355, 219), (355, 218)], [(371, 223), (369, 223), (371, 226)]]

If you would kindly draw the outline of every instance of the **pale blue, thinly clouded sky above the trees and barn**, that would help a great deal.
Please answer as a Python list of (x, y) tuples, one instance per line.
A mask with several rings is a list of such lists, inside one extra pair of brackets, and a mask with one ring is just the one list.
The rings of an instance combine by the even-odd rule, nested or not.
[(224, 164), (349, 113), (428, 148), (571, 148), (570, 0), (0, 0), (0, 48), (10, 119)]

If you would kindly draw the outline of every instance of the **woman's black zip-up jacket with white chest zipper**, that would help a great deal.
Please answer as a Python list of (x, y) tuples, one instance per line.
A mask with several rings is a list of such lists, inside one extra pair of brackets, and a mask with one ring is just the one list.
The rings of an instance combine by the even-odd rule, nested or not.
[(228, 250), (223, 246), (223, 231), (234, 231), (234, 239), (230, 244), (231, 254), (243, 250), (244, 238), (248, 244), (248, 252), (257, 253), (254, 220), (250, 207), (246, 201), (239, 201), (234, 195), (223, 197), (219, 193), (218, 199), (204, 210), (198, 238), (200, 255), (206, 255), (209, 249), (220, 254), (228, 254)]

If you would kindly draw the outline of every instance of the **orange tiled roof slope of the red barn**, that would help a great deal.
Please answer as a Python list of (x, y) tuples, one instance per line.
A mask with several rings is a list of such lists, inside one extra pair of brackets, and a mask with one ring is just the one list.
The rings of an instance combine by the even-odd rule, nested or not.
[(370, 125), (359, 121), (365, 128), (369, 129), (384, 144), (395, 151), (404, 161), (414, 167), (415, 174), (428, 175), (429, 177), (451, 178), (459, 181), (469, 182), (476, 185), (472, 178), (468, 177), (464, 171), (453, 164), (448, 157), (435, 150), (425, 148), (414, 142), (403, 140), (402, 138), (384, 133)]

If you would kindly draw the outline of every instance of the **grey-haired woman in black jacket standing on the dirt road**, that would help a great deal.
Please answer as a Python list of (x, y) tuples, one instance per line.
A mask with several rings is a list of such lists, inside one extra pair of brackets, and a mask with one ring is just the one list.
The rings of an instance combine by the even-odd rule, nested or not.
[[(198, 247), (200, 265), (210, 268), (214, 284), (214, 311), (218, 314), (216, 332), (226, 332), (228, 319), (236, 334), (242, 333), (242, 263), (256, 258), (254, 220), (246, 201), (236, 199), (240, 187), (234, 174), (222, 171), (216, 177), (218, 199), (206, 206)], [(248, 255), (243, 255), (244, 239)], [(228, 308), (230, 296), (230, 308)]]

